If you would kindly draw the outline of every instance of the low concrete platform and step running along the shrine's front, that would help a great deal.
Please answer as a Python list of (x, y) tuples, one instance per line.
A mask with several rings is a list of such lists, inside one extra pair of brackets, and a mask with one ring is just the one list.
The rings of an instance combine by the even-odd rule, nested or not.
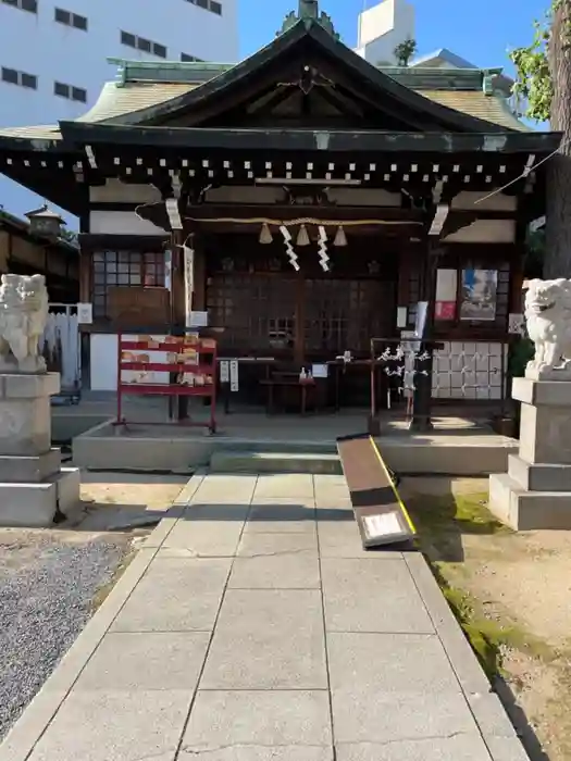
[[(328, 458), (336, 453), (337, 436), (363, 433), (364, 413), (268, 417), (264, 414), (233, 414), (221, 417), (220, 433), (210, 436), (200, 428), (177, 425), (98, 425), (73, 440), (74, 463), (98, 470), (194, 470), (209, 465), (228, 472), (275, 470), (280, 453), (306, 458), (287, 472), (338, 473)], [(508, 456), (518, 451), (513, 439), (497, 436), (484, 425), (461, 419), (435, 419), (426, 435), (411, 435), (402, 422), (387, 420), (377, 439), (389, 467), (398, 473), (476, 476), (508, 470)], [(221, 454), (223, 452), (223, 454)], [(257, 466), (257, 459), (261, 460)], [(272, 458), (270, 458), (272, 459)], [(286, 469), (287, 463), (282, 467)], [(286, 470), (284, 470), (286, 472)]]

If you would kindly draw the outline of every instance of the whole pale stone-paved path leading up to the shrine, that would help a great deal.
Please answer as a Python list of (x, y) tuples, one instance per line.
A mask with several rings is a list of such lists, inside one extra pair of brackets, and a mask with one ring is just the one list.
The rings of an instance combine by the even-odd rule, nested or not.
[(343, 477), (195, 476), (0, 761), (524, 761), (415, 552)]

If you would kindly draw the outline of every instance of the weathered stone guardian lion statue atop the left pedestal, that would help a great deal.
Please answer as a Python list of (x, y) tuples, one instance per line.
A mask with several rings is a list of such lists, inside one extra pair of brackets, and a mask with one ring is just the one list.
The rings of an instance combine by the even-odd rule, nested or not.
[(44, 275), (2, 275), (0, 284), (0, 372), (45, 373), (39, 353), (48, 321)]

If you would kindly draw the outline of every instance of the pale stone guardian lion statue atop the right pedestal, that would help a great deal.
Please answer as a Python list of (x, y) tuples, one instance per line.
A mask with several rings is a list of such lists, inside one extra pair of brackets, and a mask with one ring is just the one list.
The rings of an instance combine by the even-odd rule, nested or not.
[(525, 377), (571, 380), (571, 280), (529, 280), (525, 322), (535, 344)]

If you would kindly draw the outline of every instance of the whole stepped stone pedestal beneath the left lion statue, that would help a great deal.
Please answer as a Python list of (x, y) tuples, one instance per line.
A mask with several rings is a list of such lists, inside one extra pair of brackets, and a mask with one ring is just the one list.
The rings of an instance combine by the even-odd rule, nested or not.
[(51, 447), (58, 373), (0, 373), (0, 526), (50, 526), (79, 502), (79, 471)]

